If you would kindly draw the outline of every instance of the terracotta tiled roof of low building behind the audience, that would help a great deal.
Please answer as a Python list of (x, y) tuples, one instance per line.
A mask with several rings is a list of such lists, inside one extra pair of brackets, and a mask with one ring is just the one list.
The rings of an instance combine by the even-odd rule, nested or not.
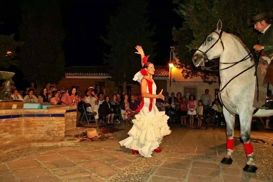
[[(72, 66), (65, 68), (66, 76), (109, 76), (107, 66)], [(155, 66), (154, 76), (169, 76), (166, 66)]]

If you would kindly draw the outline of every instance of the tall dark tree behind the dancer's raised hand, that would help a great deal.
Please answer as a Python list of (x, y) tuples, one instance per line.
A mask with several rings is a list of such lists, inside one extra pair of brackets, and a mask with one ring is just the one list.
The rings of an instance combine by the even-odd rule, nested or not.
[(141, 45), (149, 61), (155, 56), (151, 40), (154, 28), (147, 23), (147, 6), (145, 0), (121, 2), (118, 12), (110, 16), (108, 35), (102, 37), (110, 46), (109, 54), (105, 54), (104, 62), (110, 66), (111, 79), (116, 84), (132, 82), (134, 74), (141, 68), (140, 56), (134, 54), (135, 46)]

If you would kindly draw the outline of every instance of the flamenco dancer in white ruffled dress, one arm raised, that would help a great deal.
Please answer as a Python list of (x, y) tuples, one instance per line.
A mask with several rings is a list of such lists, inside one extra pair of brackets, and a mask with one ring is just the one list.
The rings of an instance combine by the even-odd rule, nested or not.
[(157, 86), (152, 79), (155, 73), (153, 63), (147, 62), (141, 46), (136, 46), (136, 54), (141, 56), (143, 69), (134, 75), (133, 80), (140, 82), (142, 101), (139, 108), (135, 111), (135, 119), (132, 120), (133, 126), (128, 132), (129, 137), (120, 141), (121, 146), (132, 149), (132, 154), (137, 153), (144, 157), (152, 157), (153, 151), (161, 152), (158, 148), (163, 136), (169, 135), (171, 130), (167, 124), (169, 116), (165, 111), (159, 112), (155, 106), (157, 98), (163, 99), (162, 91), (156, 94)]

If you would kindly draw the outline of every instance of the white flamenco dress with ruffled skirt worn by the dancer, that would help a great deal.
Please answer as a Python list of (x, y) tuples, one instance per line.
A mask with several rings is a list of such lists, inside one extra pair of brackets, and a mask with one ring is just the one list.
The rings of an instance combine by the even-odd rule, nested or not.
[[(138, 72), (133, 80), (140, 82), (142, 78), (143, 75), (141, 72)], [(147, 82), (151, 81), (147, 80)], [(151, 94), (156, 94), (156, 89), (156, 84), (153, 81)], [(148, 86), (147, 93), (150, 93)], [(135, 115), (135, 119), (132, 120), (134, 125), (128, 132), (129, 137), (119, 143), (128, 149), (138, 150), (144, 157), (152, 157), (153, 150), (159, 147), (163, 136), (171, 133), (167, 124), (169, 116), (165, 115), (165, 111), (159, 112), (155, 106), (155, 99), (153, 99), (151, 111), (149, 111), (150, 98), (143, 98), (143, 101), (143, 108)]]

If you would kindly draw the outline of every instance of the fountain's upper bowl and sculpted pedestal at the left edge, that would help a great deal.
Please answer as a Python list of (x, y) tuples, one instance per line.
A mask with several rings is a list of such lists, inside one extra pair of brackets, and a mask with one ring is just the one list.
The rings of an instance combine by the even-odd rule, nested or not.
[(10, 94), (14, 86), (14, 82), (12, 80), (14, 75), (15, 73), (13, 72), (0, 71), (0, 81), (3, 83), (3, 88), (1, 88), (2, 85), (0, 85), (0, 102), (13, 100)]

